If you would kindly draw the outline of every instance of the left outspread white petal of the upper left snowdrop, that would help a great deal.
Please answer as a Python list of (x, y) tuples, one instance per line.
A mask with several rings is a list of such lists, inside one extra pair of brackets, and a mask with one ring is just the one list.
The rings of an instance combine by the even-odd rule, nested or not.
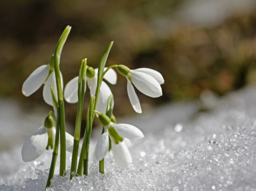
[(30, 74), (29, 78), (23, 83), (22, 93), (25, 96), (30, 96), (37, 91), (47, 79), (50, 70), (50, 65), (42, 65)]

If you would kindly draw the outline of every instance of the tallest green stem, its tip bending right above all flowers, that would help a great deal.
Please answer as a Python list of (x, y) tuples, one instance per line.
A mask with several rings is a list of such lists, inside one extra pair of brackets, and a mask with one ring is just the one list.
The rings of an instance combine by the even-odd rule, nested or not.
[(58, 103), (60, 107), (60, 136), (61, 136), (61, 159), (60, 159), (60, 175), (63, 176), (66, 170), (66, 128), (65, 128), (65, 110), (64, 110), (64, 99), (61, 85), (61, 71), (60, 71), (60, 58), (63, 46), (67, 40), (68, 34), (71, 30), (70, 26), (67, 26), (63, 31), (58, 44), (54, 51), (54, 72), (56, 79), (56, 86), (58, 92)]

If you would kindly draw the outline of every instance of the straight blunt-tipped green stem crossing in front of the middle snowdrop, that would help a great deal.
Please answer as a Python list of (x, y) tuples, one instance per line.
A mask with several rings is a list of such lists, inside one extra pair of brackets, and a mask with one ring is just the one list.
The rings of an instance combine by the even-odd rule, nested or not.
[(75, 135), (74, 135), (74, 144), (73, 144), (73, 152), (72, 152), (70, 179), (72, 179), (73, 177), (72, 172), (76, 173), (85, 87), (86, 87), (86, 60), (82, 60), (81, 67), (79, 70), (79, 77), (78, 77), (78, 106), (77, 106), (77, 114), (76, 114), (76, 122), (75, 122)]

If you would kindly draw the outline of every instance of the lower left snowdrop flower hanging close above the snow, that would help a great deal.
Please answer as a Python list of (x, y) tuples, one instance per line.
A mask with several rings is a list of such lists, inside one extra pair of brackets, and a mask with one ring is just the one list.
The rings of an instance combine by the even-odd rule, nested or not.
[[(56, 129), (51, 116), (46, 117), (44, 126), (29, 137), (21, 149), (21, 156), (24, 162), (31, 162), (40, 157), (44, 150), (53, 148)], [(66, 132), (66, 150), (72, 152), (74, 137)]]

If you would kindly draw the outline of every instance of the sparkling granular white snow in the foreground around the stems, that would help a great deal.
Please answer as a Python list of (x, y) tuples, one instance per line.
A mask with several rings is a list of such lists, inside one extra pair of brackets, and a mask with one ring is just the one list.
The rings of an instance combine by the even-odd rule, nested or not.
[[(214, 108), (208, 113), (196, 112), (193, 103), (175, 104), (143, 120), (119, 120), (145, 134), (132, 140), (129, 168), (117, 168), (108, 153), (105, 174), (91, 163), (89, 176), (69, 180), (69, 171), (65, 177), (54, 175), (47, 190), (256, 190), (256, 89), (248, 87), (210, 105)], [(0, 190), (44, 190), (50, 151), (24, 163), (20, 150), (0, 155)]]

